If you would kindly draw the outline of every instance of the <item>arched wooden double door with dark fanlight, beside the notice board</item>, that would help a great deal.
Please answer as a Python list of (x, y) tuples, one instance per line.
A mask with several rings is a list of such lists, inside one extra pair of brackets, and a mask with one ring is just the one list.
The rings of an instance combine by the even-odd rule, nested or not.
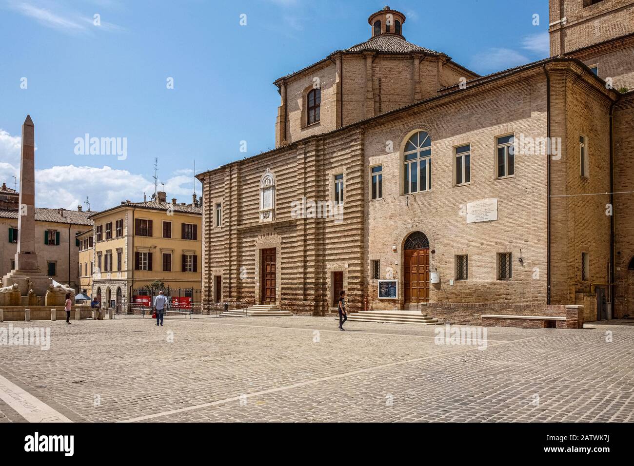
[(414, 231), (403, 247), (405, 305), (429, 302), (429, 239)]

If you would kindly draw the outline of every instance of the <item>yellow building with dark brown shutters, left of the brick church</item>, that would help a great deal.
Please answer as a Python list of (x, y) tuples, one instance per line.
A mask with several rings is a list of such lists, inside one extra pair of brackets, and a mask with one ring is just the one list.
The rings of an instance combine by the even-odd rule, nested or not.
[[(165, 283), (166, 294), (200, 301), (202, 208), (165, 201), (122, 202), (91, 216), (94, 221), (91, 297), (121, 307), (148, 295), (147, 285)], [(88, 262), (84, 259), (84, 264)]]

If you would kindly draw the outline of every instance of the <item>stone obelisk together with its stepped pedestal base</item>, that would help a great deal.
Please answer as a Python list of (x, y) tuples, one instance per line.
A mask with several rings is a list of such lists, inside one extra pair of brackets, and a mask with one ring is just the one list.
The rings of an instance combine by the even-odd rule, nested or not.
[(18, 249), (15, 269), (3, 277), (3, 285), (14, 283), (25, 296), (29, 290), (43, 296), (50, 283), (37, 267), (36, 253), (36, 141), (33, 120), (27, 115), (22, 125), (22, 153), (20, 154), (20, 209), (18, 210)]

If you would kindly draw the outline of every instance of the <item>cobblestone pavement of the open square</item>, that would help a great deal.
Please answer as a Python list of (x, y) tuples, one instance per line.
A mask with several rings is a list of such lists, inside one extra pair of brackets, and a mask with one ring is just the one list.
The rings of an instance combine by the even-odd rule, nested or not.
[[(13, 326), (51, 327), (51, 347), (0, 346), (0, 375), (76, 421), (634, 420), (628, 326), (488, 328), (484, 350), (334, 318)], [(0, 422), (22, 420), (0, 401)]]

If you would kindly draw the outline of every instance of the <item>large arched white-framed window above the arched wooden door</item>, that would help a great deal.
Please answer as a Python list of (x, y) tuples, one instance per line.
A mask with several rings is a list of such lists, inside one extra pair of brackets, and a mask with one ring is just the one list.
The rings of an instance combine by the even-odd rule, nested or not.
[(414, 133), (403, 149), (403, 194), (432, 188), (432, 138), (425, 131)]

